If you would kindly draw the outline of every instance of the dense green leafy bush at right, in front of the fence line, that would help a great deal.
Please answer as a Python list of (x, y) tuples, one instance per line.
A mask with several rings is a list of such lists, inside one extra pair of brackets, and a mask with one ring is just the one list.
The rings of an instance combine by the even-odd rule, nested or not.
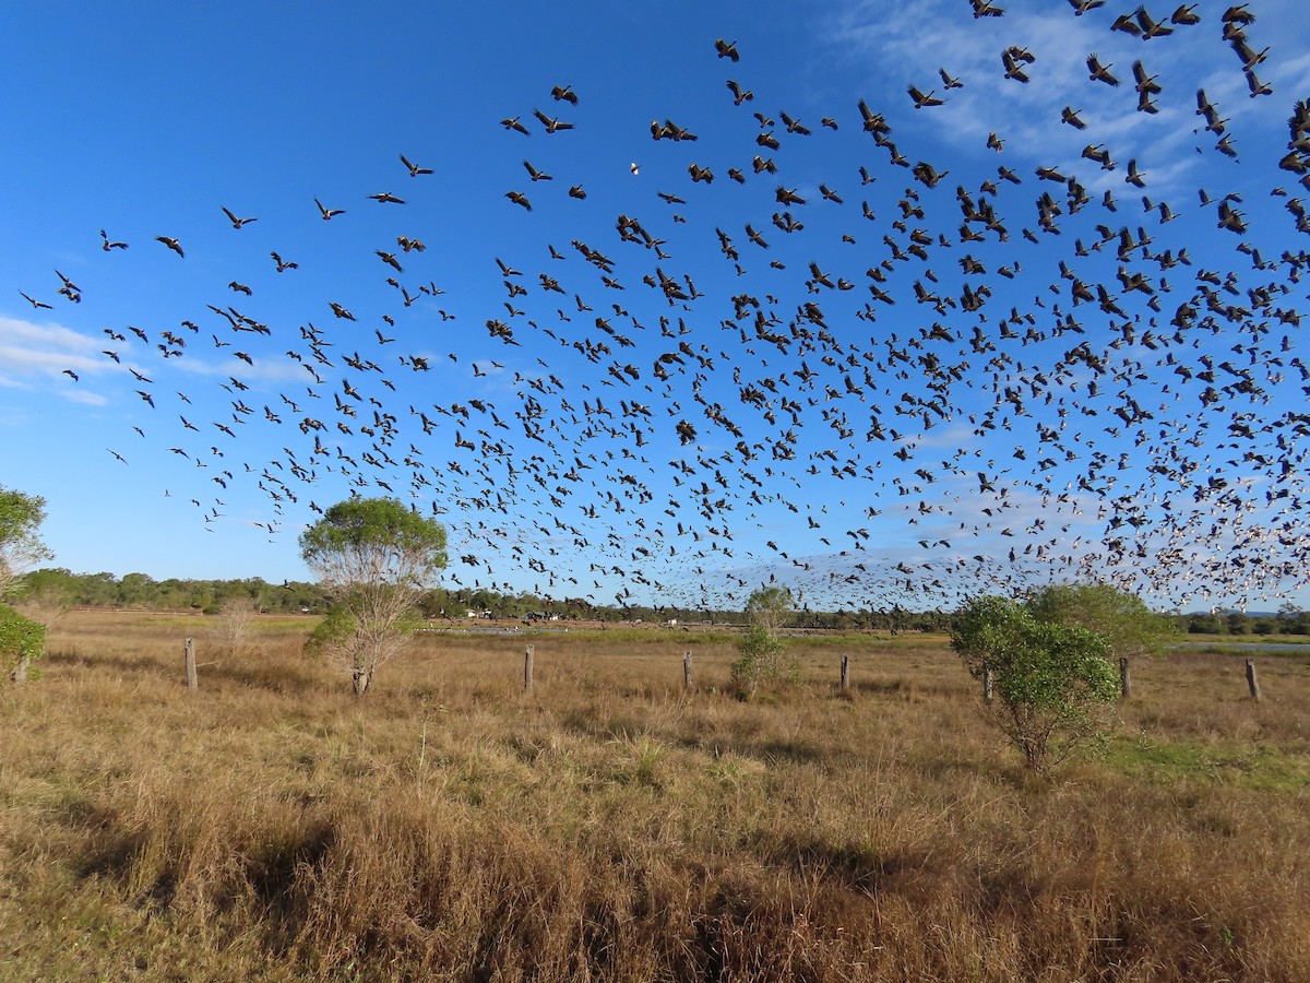
[(951, 647), (976, 679), (990, 672), (986, 713), (1030, 769), (1058, 764), (1104, 735), (1119, 676), (1103, 636), (984, 596), (958, 612)]

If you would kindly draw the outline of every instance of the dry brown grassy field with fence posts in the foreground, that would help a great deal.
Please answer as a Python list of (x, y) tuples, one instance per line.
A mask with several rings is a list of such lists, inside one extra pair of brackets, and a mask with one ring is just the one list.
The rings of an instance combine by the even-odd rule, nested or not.
[(359, 701), (307, 630), (54, 625), (0, 689), (0, 979), (1310, 979), (1310, 650), (1259, 704), (1136, 665), (1035, 780), (941, 638), (796, 640), (743, 704), (723, 633), (431, 633)]

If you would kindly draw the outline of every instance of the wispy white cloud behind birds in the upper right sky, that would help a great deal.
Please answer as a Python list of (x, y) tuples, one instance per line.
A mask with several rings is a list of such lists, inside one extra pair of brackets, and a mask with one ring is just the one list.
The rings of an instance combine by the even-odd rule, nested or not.
[[(1207, 89), (1234, 126), (1248, 118), (1268, 123), (1271, 115), (1286, 115), (1286, 98), (1250, 98), (1237, 55), (1218, 37), (1217, 18), (1144, 42), (1110, 30), (1112, 13), (1076, 17), (1053, 0), (1006, 4), (1005, 17), (980, 21), (960, 17), (958, 8), (935, 0), (916, 4), (908, 14), (892, 4), (861, 0), (824, 25), (824, 39), (838, 58), (869, 64), (870, 96), (880, 102), (875, 109), (887, 111), (892, 138), (904, 138), (905, 144), (918, 134), (931, 134), (955, 155), (979, 153), (988, 134), (997, 132), (1005, 142), (998, 163), (1020, 174), (1038, 165), (1055, 168), (1096, 193), (1124, 189), (1124, 166), (1136, 157), (1149, 172), (1150, 194), (1167, 195), (1195, 182), (1203, 164), (1227, 160), (1214, 149), (1214, 135), (1201, 130), (1204, 122), (1195, 113), (1197, 88)], [(1251, 43), (1256, 50), (1273, 45), (1300, 52), (1305, 45), (1297, 38), (1310, 42), (1302, 21), (1285, 14), (1276, 24), (1260, 21), (1248, 29)], [(1290, 33), (1279, 37), (1277, 30)], [(1028, 84), (1003, 77), (1001, 56), (1011, 45), (1034, 55), (1023, 66)], [(1112, 66), (1119, 87), (1089, 79), (1091, 52)], [(1138, 60), (1163, 89), (1154, 97), (1158, 113), (1137, 111), (1133, 64)], [(959, 77), (964, 88), (947, 90), (939, 68)], [(1276, 92), (1303, 93), (1310, 87), (1310, 54), (1271, 56), (1268, 67), (1258, 71)], [(908, 84), (935, 89), (945, 105), (910, 109)], [(1060, 122), (1066, 106), (1087, 123), (1086, 130)], [(1231, 139), (1241, 151), (1241, 135)], [(1089, 144), (1104, 144), (1116, 169), (1102, 170), (1083, 159), (1082, 148)]]

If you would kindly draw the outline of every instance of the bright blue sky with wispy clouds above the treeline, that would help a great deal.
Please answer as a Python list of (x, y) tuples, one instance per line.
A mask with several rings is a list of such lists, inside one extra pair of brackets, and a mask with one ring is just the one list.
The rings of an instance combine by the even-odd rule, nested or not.
[(314, 506), (390, 493), (451, 586), (1305, 604), (1310, 24), (1246, 5), (1252, 96), (1227, 4), (1000, 5), (7, 12), (0, 484), (84, 571), (304, 578)]

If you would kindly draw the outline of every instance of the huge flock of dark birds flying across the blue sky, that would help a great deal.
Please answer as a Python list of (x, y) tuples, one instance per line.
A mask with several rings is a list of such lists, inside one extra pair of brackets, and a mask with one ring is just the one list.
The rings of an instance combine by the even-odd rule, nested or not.
[[(1197, 4), (1167, 17), (1140, 7), (1111, 22), (1095, 13), (1106, 0), (1068, 3), (1070, 16), (1103, 16), (1108, 30), (1157, 45), (1222, 33), (1248, 97), (1273, 97), (1247, 4), (1204, 17)], [(1005, 16), (993, 0), (960, 4), (975, 18)], [(1119, 90), (1125, 114), (1176, 105), (1182, 89), (1153, 75), (1142, 51), (1128, 66), (1087, 52), (1089, 93)], [(414, 279), (431, 266), (413, 228), (362, 250), (371, 265), (360, 275), (390, 288), (383, 309), (318, 298), (304, 322), (266, 324), (238, 275), (178, 325), (105, 329), (103, 358), (131, 374), (145, 410), (134, 429), (196, 465), (203, 490), (191, 501), (210, 523), (240, 482), (267, 495), (270, 536), (345, 493), (431, 510), (453, 531), (448, 579), (469, 588), (608, 603), (617, 587), (620, 604), (723, 608), (783, 583), (807, 606), (888, 608), (1051, 578), (1178, 603), (1307, 583), (1305, 101), (1289, 100), (1285, 145), (1256, 148), (1195, 93), (1197, 153), (1231, 160), (1234, 181), (1252, 161), (1282, 178), (1265, 189), (1286, 211), (1268, 233), (1288, 242), (1275, 254), (1248, 232), (1243, 193), (1154, 198), (1150, 173), (1074, 106), (1049, 125), (1086, 131), (1077, 164), (1011, 165), (1006, 135), (992, 132), (980, 148), (992, 163), (967, 174), (917, 160), (913, 134), (893, 131), (956, 89), (1039, 81), (1040, 51), (997, 51), (992, 79), (943, 67), (931, 85), (908, 84), (897, 106), (853, 94), (812, 127), (757, 110), (762, 98), (743, 81), (749, 55), (724, 39), (706, 51), (734, 76), (715, 111), (734, 114), (735, 155), (698, 156), (694, 118), (652, 121), (645, 153), (660, 155), (660, 180), (675, 160), (681, 177), (654, 189), (645, 182), (656, 168), (631, 163), (645, 211), (620, 214), (604, 240), (532, 236), (544, 201), (588, 207), (584, 174), (548, 172), (552, 142), (612, 122), (590, 118), (570, 85), (506, 115), (506, 151), (531, 147), (536, 163), (487, 203), (521, 208), (521, 233), (487, 257), (504, 295), (474, 301), (494, 309), (473, 326), (468, 305), (447, 309), (457, 284), (439, 287), (439, 271)], [(789, 176), (787, 144), (838, 130), (861, 135), (858, 166), (833, 164), (823, 181)], [(400, 168), (411, 193), (368, 197), (403, 216), (432, 169), (405, 155)], [(696, 222), (732, 214), (731, 202), (707, 202), (738, 186), (766, 187), (768, 203), (757, 193), (735, 224)], [(350, 207), (313, 202), (322, 222), (351, 222)], [(221, 214), (237, 231), (257, 220)], [(1184, 214), (1189, 232), (1174, 235)], [(836, 240), (834, 228), (840, 244), (819, 248), (814, 237)], [(1193, 257), (1203, 228), (1214, 248)], [(100, 236), (105, 253), (128, 249)], [(132, 250), (187, 258), (181, 239), (155, 239)], [(823, 258), (793, 258), (807, 254)], [(261, 262), (299, 275), (279, 252)], [(35, 288), (20, 292), (52, 307)], [(58, 294), (83, 299), (63, 274)], [(417, 317), (485, 330), (487, 354), (461, 366), (440, 336), (411, 329)], [(162, 383), (198, 349), (231, 364), (216, 419)], [(244, 371), (274, 359), (296, 363), (301, 384)], [(244, 453), (255, 427), (276, 434), (279, 455)], [(110, 453), (127, 464), (123, 450)]]

